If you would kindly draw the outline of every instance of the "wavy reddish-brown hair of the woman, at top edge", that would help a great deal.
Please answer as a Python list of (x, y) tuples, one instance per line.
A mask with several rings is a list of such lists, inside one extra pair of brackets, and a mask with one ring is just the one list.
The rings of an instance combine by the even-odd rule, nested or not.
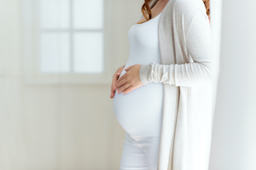
[[(147, 22), (148, 20), (150, 20), (152, 18), (152, 12), (151, 12), (151, 8), (149, 7), (149, 4), (152, 0), (145, 0), (145, 3), (143, 4), (142, 6), (142, 12), (143, 12), (143, 15), (145, 17), (145, 21), (143, 22)], [(211, 22), (210, 20), (210, 0), (202, 0), (203, 3), (205, 3), (205, 6), (206, 6), (206, 12), (207, 12), (207, 15), (208, 15), (208, 18), (209, 18), (209, 21)], [(149, 15), (149, 18), (146, 17), (146, 13), (148, 13)], [(141, 22), (141, 23), (143, 23)], [(140, 24), (141, 24), (140, 23)]]

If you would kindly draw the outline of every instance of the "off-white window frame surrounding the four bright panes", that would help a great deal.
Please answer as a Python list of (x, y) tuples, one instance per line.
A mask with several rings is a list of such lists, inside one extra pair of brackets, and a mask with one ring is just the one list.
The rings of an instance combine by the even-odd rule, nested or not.
[[(72, 2), (73, 0), (70, 0)], [(110, 68), (113, 54), (109, 50), (112, 44), (111, 38), (111, 2), (112, 0), (103, 0), (103, 72), (102, 73), (42, 73), (39, 65), (39, 23), (38, 18), (38, 0), (22, 0), (22, 55), (23, 71), (25, 73), (25, 82), (28, 84), (109, 84), (112, 82), (113, 73)], [(72, 8), (72, 7), (71, 7)], [(71, 11), (72, 13), (72, 11)], [(72, 15), (72, 14), (71, 14)], [(72, 20), (72, 19), (71, 19)], [(105, 22), (108, 20), (108, 24)], [(47, 30), (45, 30), (47, 31)], [(89, 31), (89, 30), (77, 30)], [(73, 37), (71, 37), (73, 38)], [(72, 41), (72, 40), (71, 40)], [(72, 44), (71, 44), (72, 48)], [(72, 51), (72, 49), (71, 49)]]

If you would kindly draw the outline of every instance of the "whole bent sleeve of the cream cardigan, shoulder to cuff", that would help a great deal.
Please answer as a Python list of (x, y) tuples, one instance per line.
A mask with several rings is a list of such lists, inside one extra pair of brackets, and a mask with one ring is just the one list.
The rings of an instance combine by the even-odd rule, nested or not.
[[(175, 86), (202, 86), (211, 83), (211, 26), (207, 14), (197, 13), (185, 31), (185, 44), (193, 62), (141, 65), (139, 77), (143, 85), (162, 82)], [(186, 27), (186, 26), (184, 26)]]

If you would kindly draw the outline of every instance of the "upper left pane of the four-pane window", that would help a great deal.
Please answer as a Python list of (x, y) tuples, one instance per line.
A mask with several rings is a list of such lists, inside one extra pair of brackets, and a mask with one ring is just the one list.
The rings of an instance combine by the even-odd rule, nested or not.
[(44, 29), (69, 28), (69, 0), (40, 0), (40, 26)]

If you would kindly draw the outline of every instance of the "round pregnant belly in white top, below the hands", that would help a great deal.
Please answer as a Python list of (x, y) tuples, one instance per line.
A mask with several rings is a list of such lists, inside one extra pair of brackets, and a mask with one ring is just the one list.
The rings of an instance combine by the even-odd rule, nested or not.
[(131, 135), (160, 135), (163, 94), (163, 84), (154, 82), (128, 94), (115, 92), (114, 115)]

